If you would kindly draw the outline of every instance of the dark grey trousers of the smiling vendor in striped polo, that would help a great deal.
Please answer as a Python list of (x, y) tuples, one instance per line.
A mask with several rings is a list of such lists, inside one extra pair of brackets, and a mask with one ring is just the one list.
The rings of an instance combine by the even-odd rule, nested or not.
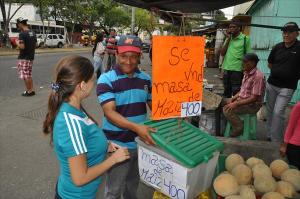
[(105, 199), (137, 199), (140, 181), (137, 149), (129, 149), (130, 159), (116, 164), (106, 173)]

